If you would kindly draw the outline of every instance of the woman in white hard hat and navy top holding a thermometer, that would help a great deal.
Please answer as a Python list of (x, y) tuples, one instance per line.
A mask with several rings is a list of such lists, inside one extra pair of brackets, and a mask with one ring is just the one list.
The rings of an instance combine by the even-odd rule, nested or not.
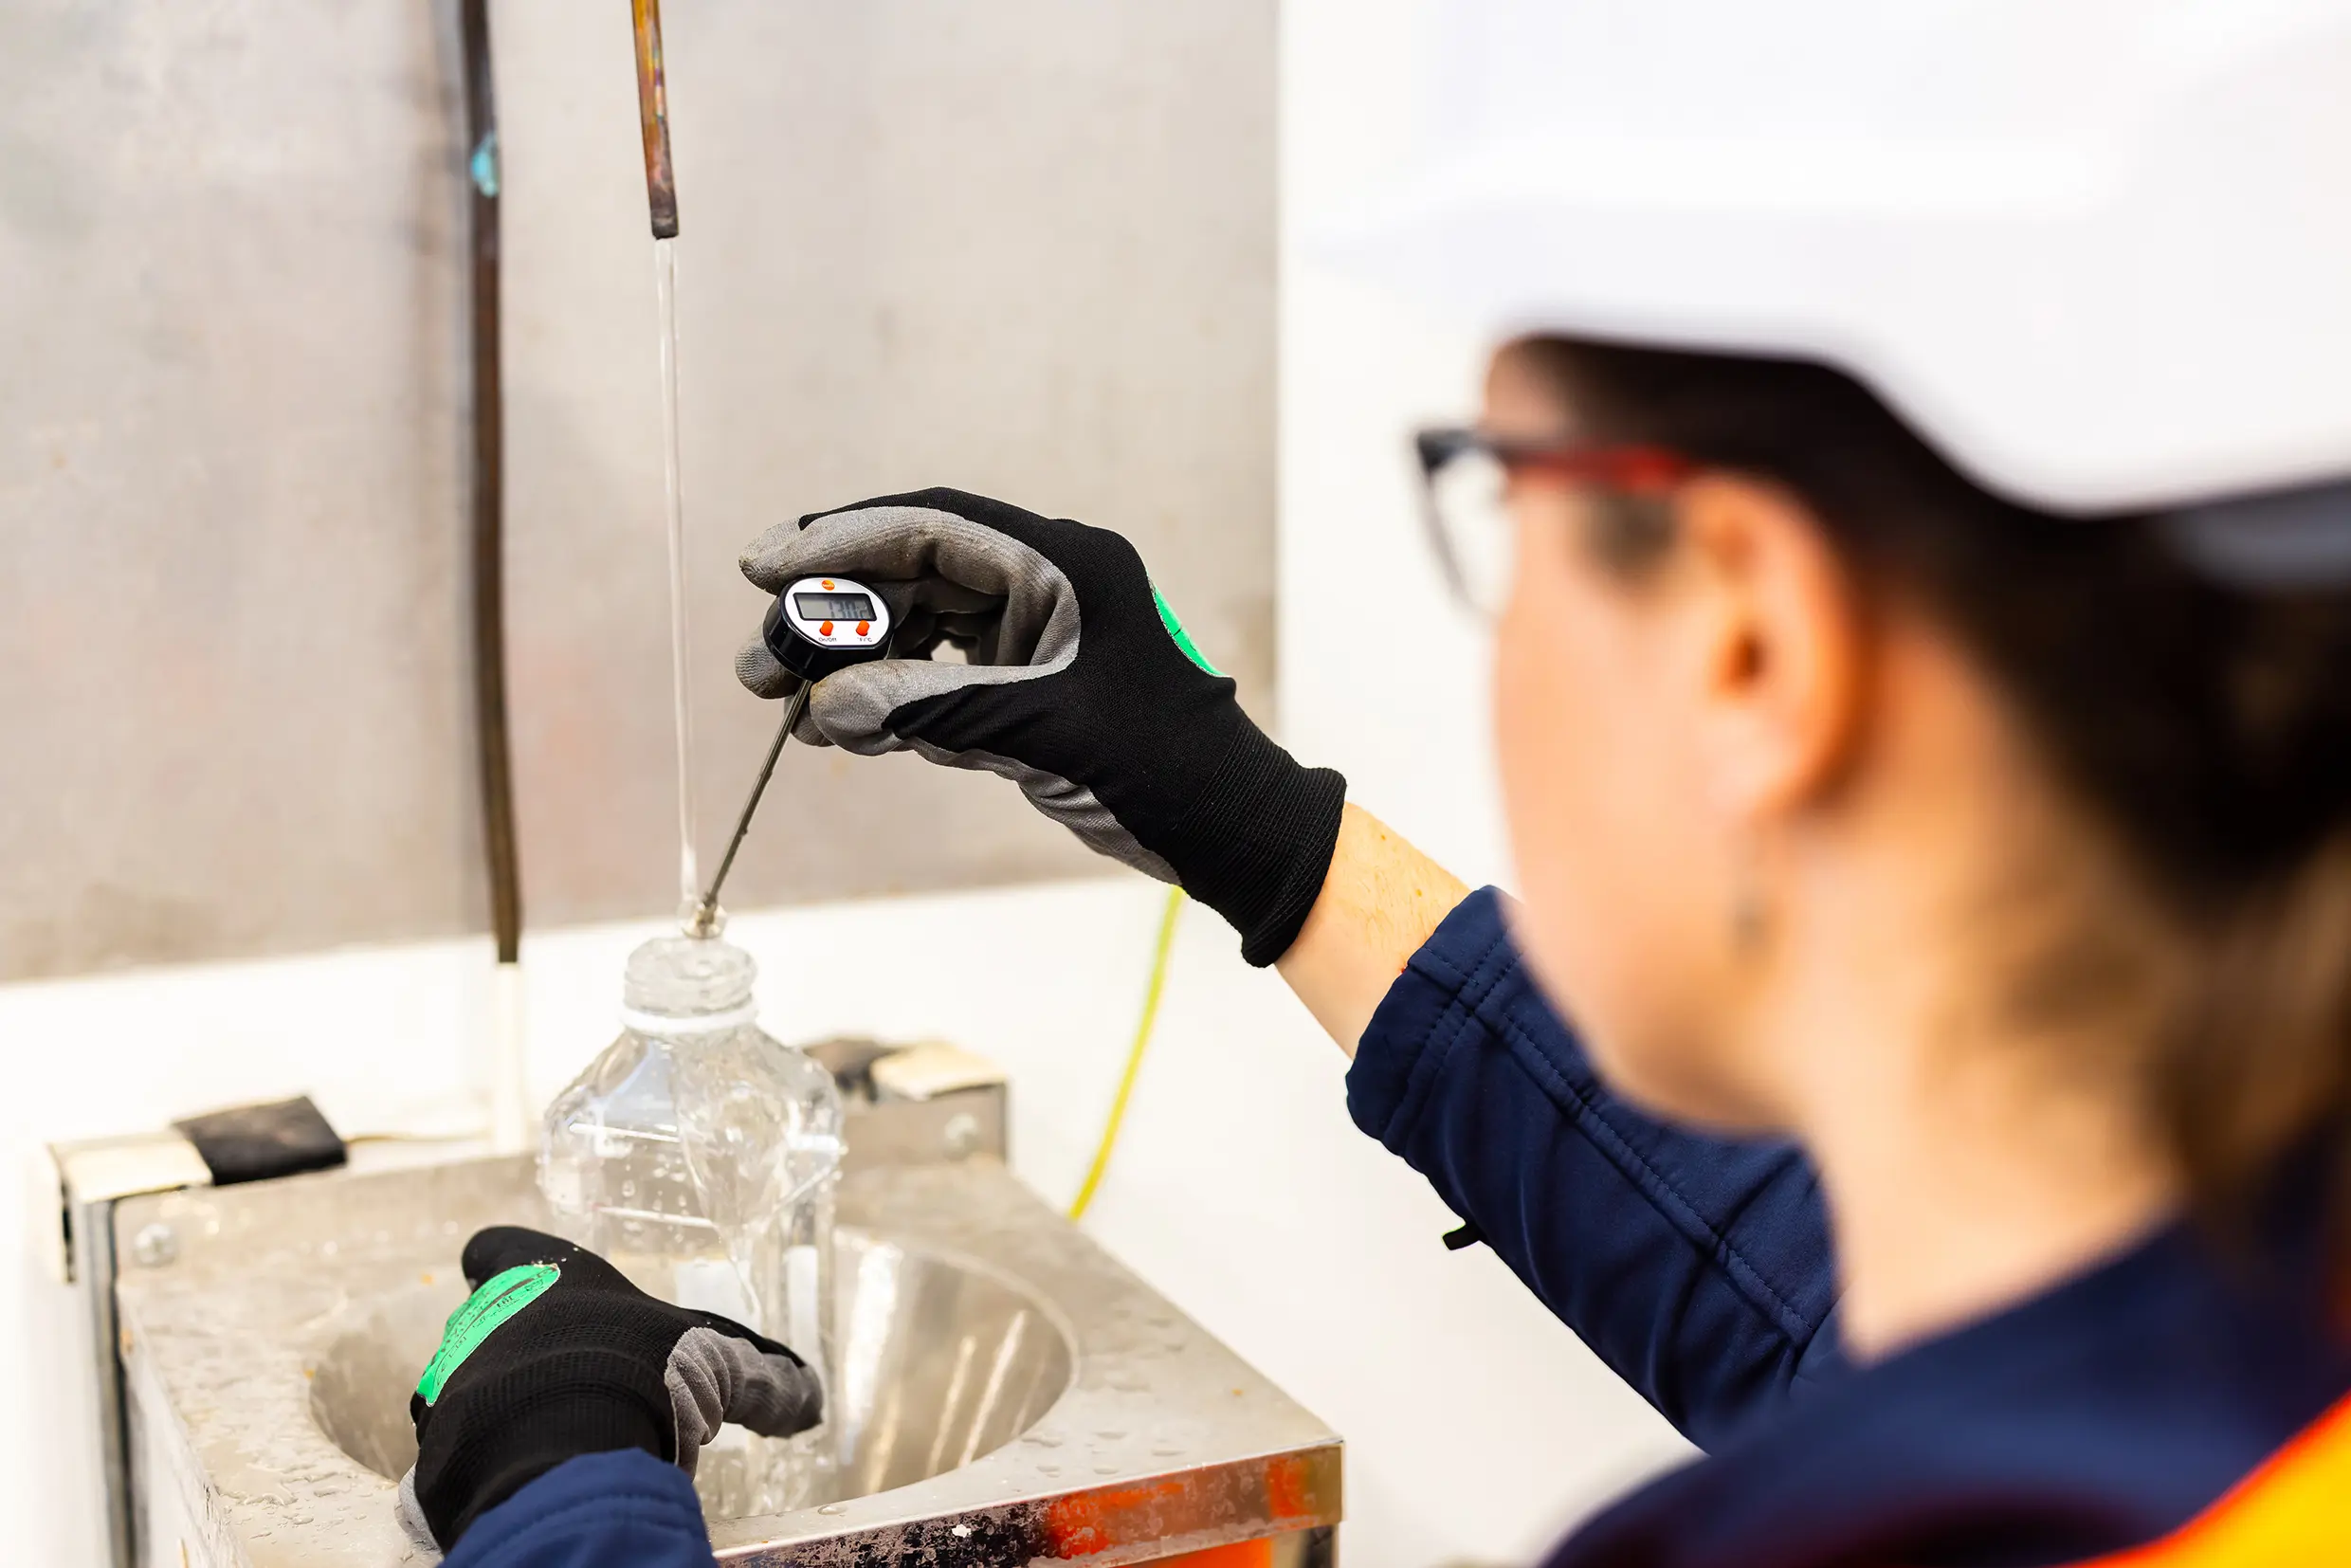
[[(1954, 16), (1916, 24), (1933, 80), (2034, 103), (2015, 40)], [(1716, 230), (1690, 190), (1646, 237), (1570, 221), (1601, 197), (1547, 181), (1596, 150), (1540, 82), (1512, 96), (1561, 24), (1488, 16), (1486, 141), (1387, 244), (1538, 327), (1474, 430), (1422, 437), (1472, 595), (1479, 524), (1507, 527), (1516, 905), (1255, 731), (1112, 534), (924, 491), (745, 557), (764, 590), (886, 581), (912, 632), (818, 686), (809, 738), (1011, 776), (1223, 912), (1354, 1051), (1357, 1121), (1709, 1450), (1559, 1566), (2351, 1561), (2351, 273), (2304, 266), (2351, 259), (2351, 186), (2313, 209), (2299, 181), (2346, 160), (2351, 35), (2278, 16), (2106, 16), (2109, 78), (2156, 61), (2172, 94), (2135, 118), (2102, 80), (2083, 146), (2123, 174), (1975, 233), (1951, 214), (1987, 179), (2071, 148), (1987, 132), (1989, 174), (1895, 160), (1921, 183), (1876, 219), (1831, 190), (1836, 249), (1751, 188)], [(1735, 52), (1751, 24), (1716, 21)], [(1770, 115), (1693, 113), (1777, 167)], [(1617, 136), (1608, 200), (1719, 174), (1693, 134), (1646, 165)], [(2208, 158), (2154, 179), (2130, 136)], [(1935, 244), (1900, 242), (1918, 223)], [(1469, 470), (1507, 517), (1460, 508)], [(971, 663), (922, 661), (938, 639)], [(741, 672), (785, 686), (757, 644)], [(534, 1312), (421, 1410), (435, 1533), (475, 1563), (705, 1561), (651, 1394), (600, 1427), (647, 1453), (451, 1479), (534, 1378)], [(670, 1523), (623, 1552), (600, 1497)]]

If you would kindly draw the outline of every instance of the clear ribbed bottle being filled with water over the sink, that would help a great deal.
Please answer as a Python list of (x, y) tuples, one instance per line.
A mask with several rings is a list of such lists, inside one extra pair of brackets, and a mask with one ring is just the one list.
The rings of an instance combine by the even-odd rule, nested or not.
[[(639, 1288), (783, 1340), (835, 1378), (832, 1190), (842, 1095), (759, 1032), (741, 947), (668, 936), (628, 957), (616, 1039), (548, 1107), (538, 1185), (555, 1225)], [(712, 1519), (832, 1497), (828, 1429), (724, 1427), (696, 1472)]]

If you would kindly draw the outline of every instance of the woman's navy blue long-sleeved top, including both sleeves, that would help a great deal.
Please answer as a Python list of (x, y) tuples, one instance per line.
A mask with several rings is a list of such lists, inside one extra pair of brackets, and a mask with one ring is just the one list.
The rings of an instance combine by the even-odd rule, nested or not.
[[(2351, 1479), (2351, 1354), (2309, 1272), (2257, 1284), (2184, 1227), (1848, 1366), (1810, 1166), (1608, 1093), (1491, 889), (1396, 978), (1347, 1105), (1712, 1453), (1587, 1523), (1552, 1568), (2071, 1563), (2248, 1495), (2241, 1483), (2297, 1434), (2330, 1434)], [(708, 1568), (710, 1549), (686, 1479), (623, 1453), (541, 1476), (449, 1561)]]

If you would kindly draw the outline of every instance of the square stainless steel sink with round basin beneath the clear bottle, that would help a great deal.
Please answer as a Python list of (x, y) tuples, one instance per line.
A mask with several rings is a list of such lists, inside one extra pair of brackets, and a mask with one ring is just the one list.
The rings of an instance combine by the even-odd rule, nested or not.
[[(724, 1561), (1086, 1559), (1319, 1568), (1338, 1439), (1046, 1208), (969, 1117), (870, 1107), (842, 1182), (837, 1392), (858, 1493), (712, 1521)], [(987, 1147), (985, 1138), (978, 1147)], [(71, 1182), (68, 1182), (71, 1190)], [(336, 1171), (89, 1206), (118, 1349), (122, 1561), (383, 1568), (407, 1396), (527, 1159)]]

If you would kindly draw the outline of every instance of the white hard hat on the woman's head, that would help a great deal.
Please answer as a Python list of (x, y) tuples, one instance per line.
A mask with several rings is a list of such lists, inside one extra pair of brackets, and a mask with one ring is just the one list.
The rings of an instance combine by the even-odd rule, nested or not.
[(1493, 334), (1813, 357), (2062, 512), (2351, 477), (2351, 0), (1446, 0), (1324, 230)]

